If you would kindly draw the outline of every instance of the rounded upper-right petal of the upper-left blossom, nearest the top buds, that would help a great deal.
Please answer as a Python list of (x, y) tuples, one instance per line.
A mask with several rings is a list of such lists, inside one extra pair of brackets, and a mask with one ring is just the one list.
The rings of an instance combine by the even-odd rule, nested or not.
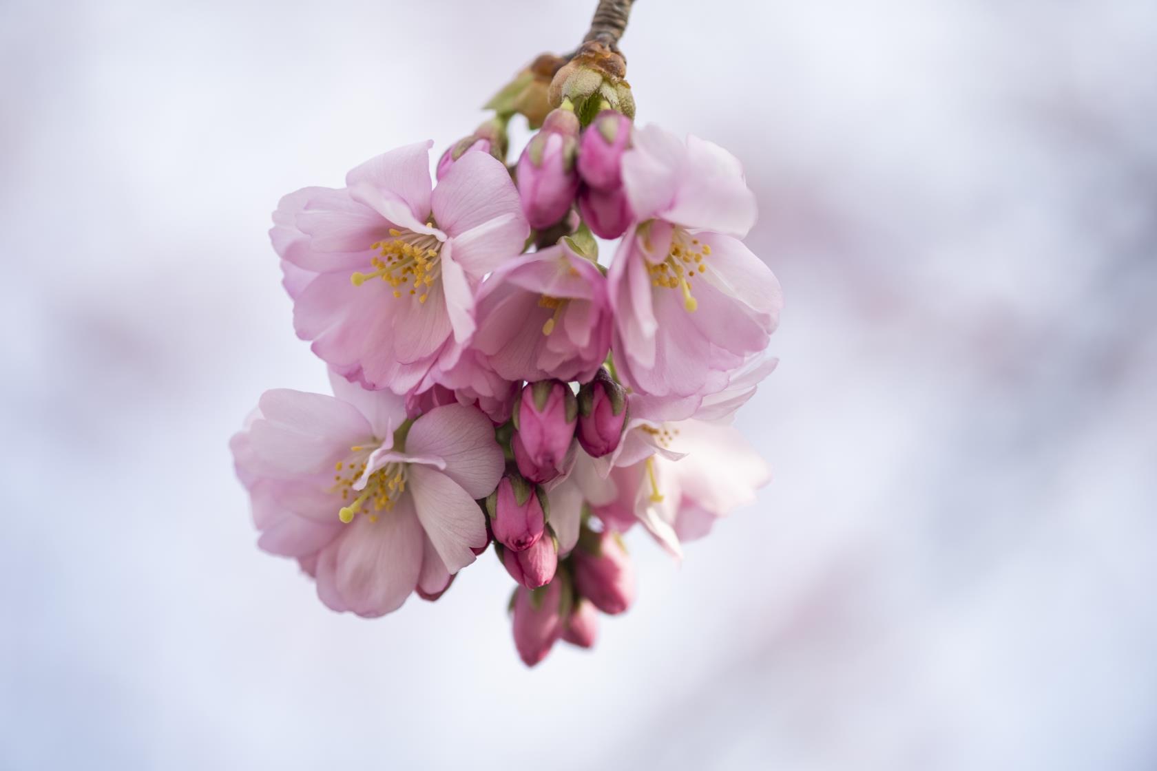
[[(466, 153), (458, 158), (434, 188), (432, 205), (439, 228), (451, 238), (496, 218), (515, 223), (514, 240), (525, 239), (530, 232), (510, 172), (488, 153)], [(522, 251), (521, 243), (518, 246)]]

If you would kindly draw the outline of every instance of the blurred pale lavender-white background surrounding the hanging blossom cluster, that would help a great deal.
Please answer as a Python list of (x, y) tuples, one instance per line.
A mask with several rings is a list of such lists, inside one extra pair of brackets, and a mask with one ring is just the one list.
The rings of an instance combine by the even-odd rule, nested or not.
[(594, 6), (0, 0), (0, 768), (1157, 768), (1151, 0), (640, 0), (786, 291), (759, 504), (535, 670), (492, 555), (367, 622), (256, 549), (278, 198)]

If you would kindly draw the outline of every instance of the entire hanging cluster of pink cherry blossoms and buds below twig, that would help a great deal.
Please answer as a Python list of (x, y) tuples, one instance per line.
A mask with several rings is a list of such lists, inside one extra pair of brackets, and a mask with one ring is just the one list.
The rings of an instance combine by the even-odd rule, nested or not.
[[(631, 607), (633, 526), (681, 558), (768, 481), (732, 416), (781, 306), (739, 162), (635, 127), (625, 82), (572, 65), (500, 94), (436, 181), (420, 142), (281, 200), (332, 395), (268, 391), (231, 440), (258, 546), (334, 610), (436, 600), (493, 542), (530, 666)], [(508, 166), (519, 113), (540, 128)], [(596, 237), (619, 239), (609, 267)]]

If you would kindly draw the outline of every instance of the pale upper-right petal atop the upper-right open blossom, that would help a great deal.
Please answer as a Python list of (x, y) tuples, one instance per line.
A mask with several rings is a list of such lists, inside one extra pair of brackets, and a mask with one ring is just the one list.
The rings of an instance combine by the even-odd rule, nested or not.
[(663, 218), (743, 238), (756, 224), (756, 194), (738, 158), (714, 142), (687, 136), (685, 165)]

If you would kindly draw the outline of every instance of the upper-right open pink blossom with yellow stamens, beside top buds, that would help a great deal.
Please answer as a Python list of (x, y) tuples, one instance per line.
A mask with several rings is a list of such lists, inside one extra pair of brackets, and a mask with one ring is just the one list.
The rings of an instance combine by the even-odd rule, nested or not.
[(614, 363), (639, 392), (710, 394), (767, 347), (779, 320), (779, 282), (739, 240), (754, 224), (754, 195), (716, 144), (656, 126), (632, 141), (622, 183), (641, 224), (607, 274)]

